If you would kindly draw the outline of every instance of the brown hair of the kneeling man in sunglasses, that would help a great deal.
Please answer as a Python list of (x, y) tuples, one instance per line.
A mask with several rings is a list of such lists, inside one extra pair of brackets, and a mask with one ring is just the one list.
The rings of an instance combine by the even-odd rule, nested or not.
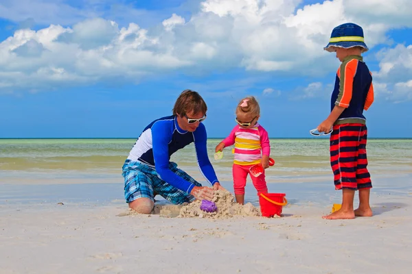
[(172, 111), (173, 115), (179, 114), (181, 117), (185, 116), (187, 112), (193, 112), (193, 114), (203, 112), (203, 114), (206, 115), (207, 105), (198, 92), (194, 90), (183, 90), (181, 95), (176, 99)]

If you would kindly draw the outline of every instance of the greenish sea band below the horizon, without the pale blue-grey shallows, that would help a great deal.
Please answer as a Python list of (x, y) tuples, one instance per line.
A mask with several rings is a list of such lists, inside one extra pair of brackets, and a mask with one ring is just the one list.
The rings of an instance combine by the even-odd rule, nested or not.
[[(233, 154), (213, 158), (222, 139), (209, 139), (209, 158), (222, 175), (231, 172)], [(119, 174), (135, 139), (0, 139), (0, 171), (7, 174), (78, 173), (87, 177)], [(369, 169), (375, 172), (412, 172), (412, 139), (371, 139), (367, 153)], [(275, 166), (268, 174), (279, 176), (323, 175), (330, 173), (327, 138), (271, 139)], [(172, 160), (181, 168), (197, 169), (194, 146), (174, 153)]]

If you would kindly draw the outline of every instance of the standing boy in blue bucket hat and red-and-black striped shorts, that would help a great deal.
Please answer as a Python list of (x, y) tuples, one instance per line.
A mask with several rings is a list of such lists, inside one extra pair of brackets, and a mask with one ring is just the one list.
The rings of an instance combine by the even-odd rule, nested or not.
[[(331, 112), (318, 127), (319, 132), (333, 132), (330, 136), (330, 164), (336, 190), (342, 190), (342, 207), (323, 219), (354, 219), (372, 216), (369, 194), (372, 188), (367, 170), (367, 127), (363, 110), (374, 101), (371, 73), (363, 62), (367, 51), (362, 27), (345, 23), (335, 27), (329, 44), (324, 48), (336, 52), (342, 62), (336, 73), (331, 97)], [(354, 210), (355, 191), (359, 190), (359, 207)]]

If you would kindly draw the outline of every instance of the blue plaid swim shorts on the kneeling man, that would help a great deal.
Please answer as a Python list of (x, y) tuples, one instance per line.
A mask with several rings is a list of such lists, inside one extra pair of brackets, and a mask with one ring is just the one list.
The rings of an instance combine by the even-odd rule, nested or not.
[[(142, 197), (155, 201), (155, 193), (176, 205), (190, 203), (195, 200), (192, 195), (187, 194), (187, 192), (175, 188), (160, 179), (156, 170), (146, 164), (126, 160), (122, 169), (122, 176), (124, 177), (124, 198), (126, 199), (126, 203), (130, 203), (131, 201)], [(185, 171), (178, 169), (176, 163), (170, 162), (169, 169), (192, 184), (202, 186), (192, 177), (187, 175)]]

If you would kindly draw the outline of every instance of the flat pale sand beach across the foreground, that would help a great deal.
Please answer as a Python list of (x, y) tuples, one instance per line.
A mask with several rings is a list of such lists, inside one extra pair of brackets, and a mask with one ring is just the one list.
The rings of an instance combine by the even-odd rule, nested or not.
[(328, 184), (301, 190), (320, 203), (288, 193), (282, 218), (271, 219), (128, 215), (119, 200), (2, 200), (0, 273), (410, 273), (410, 177), (377, 181), (375, 215), (345, 221), (321, 219), (339, 201), (339, 192), (321, 198)]

